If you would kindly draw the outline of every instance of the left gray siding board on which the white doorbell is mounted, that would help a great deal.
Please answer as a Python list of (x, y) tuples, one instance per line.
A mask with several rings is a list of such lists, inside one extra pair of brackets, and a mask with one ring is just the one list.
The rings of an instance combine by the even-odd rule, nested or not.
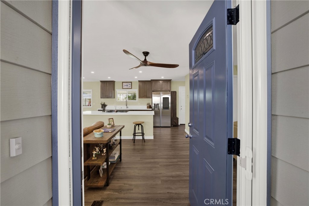
[[(10, 157), (10, 138), (15, 137), (22, 137), (23, 153)], [(51, 156), (51, 116), (1, 122), (1, 182)]]

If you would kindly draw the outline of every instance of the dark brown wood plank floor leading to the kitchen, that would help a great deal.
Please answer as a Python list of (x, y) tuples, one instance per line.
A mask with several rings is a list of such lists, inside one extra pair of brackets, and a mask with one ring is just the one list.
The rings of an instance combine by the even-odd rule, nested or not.
[(85, 188), (85, 205), (104, 200), (103, 206), (189, 206), (189, 139), (184, 128), (154, 128), (154, 139), (145, 143), (123, 140), (122, 161), (110, 185)]

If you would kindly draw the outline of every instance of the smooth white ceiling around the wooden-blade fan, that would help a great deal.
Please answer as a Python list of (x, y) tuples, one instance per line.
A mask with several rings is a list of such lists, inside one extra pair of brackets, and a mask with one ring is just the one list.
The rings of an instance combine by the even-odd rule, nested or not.
[[(189, 73), (188, 45), (212, 2), (83, 1), (83, 80), (164, 77), (184, 81)], [(179, 67), (143, 66), (129, 70), (139, 62), (123, 53), (123, 49), (141, 60), (142, 52), (148, 51), (148, 61)]]

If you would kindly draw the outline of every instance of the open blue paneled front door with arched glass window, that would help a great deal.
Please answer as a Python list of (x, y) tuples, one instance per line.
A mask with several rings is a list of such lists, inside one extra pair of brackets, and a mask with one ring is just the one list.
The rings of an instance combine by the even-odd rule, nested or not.
[(195, 205), (232, 205), (232, 26), (231, 1), (215, 0), (189, 44), (189, 200)]

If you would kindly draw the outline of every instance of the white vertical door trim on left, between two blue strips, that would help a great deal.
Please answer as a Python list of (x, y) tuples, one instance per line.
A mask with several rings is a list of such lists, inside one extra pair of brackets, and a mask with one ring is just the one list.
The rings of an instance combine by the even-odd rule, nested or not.
[(58, 194), (59, 205), (72, 205), (70, 1), (59, 1), (58, 23)]

